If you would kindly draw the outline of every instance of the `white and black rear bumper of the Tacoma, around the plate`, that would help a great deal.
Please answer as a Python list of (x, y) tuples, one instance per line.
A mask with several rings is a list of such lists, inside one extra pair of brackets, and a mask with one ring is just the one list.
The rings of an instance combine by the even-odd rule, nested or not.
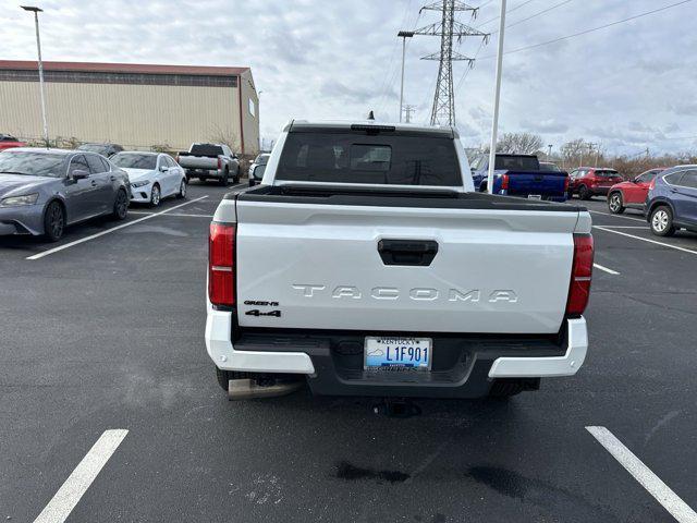
[(430, 373), (363, 369), (363, 332), (245, 332), (233, 346), (232, 313), (209, 309), (206, 346), (225, 370), (304, 374), (318, 394), (478, 398), (496, 379), (575, 375), (588, 348), (586, 320), (568, 319), (563, 336), (433, 335)]

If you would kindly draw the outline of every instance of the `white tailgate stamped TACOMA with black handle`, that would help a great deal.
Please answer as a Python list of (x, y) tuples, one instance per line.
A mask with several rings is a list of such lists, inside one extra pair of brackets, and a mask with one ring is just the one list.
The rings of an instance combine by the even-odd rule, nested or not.
[(563, 320), (578, 212), (239, 199), (236, 215), (242, 327), (553, 333)]

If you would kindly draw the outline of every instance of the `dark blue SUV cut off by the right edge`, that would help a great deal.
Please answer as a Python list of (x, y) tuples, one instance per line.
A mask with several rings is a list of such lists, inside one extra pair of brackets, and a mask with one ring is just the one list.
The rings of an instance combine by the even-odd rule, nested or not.
[(697, 166), (673, 167), (656, 177), (646, 210), (657, 236), (670, 236), (681, 228), (697, 232)]

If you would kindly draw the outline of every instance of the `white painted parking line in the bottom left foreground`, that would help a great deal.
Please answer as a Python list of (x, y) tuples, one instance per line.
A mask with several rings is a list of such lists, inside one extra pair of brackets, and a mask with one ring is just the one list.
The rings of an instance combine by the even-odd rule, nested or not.
[(34, 523), (63, 523), (127, 434), (121, 428), (105, 430)]

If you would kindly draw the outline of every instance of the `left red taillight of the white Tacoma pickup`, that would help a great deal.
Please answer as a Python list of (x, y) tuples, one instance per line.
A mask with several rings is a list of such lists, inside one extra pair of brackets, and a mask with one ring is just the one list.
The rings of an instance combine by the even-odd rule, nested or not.
[(213, 305), (235, 304), (235, 227), (210, 224), (208, 299)]

